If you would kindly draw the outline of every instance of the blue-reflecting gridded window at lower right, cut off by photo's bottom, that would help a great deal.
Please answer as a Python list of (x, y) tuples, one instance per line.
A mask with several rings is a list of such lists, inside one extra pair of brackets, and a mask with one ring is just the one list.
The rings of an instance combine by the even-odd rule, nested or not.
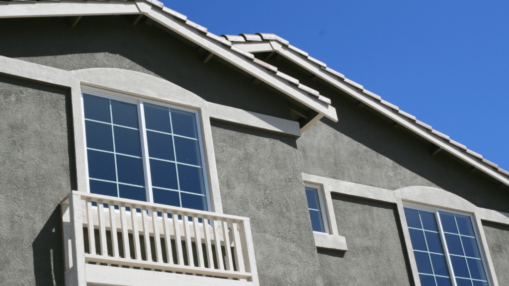
[(404, 209), (422, 286), (488, 286), (470, 216), (438, 209)]

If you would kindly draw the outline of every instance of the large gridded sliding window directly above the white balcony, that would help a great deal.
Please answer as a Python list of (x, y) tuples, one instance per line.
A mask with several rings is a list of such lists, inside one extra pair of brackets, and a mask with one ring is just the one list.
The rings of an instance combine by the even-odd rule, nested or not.
[(197, 113), (82, 93), (91, 193), (208, 210)]

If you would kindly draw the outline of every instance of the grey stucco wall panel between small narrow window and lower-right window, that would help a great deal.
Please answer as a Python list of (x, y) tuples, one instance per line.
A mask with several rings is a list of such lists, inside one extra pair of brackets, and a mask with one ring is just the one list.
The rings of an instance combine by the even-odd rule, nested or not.
[(338, 195), (332, 203), (348, 251), (318, 249), (324, 285), (413, 285), (395, 205)]

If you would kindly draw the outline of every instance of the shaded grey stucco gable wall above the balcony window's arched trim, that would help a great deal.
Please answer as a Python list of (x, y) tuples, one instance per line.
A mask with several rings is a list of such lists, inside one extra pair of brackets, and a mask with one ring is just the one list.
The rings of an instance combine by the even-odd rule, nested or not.
[(62, 70), (118, 68), (173, 82), (203, 99), (290, 119), (286, 99), (216, 60), (202, 62), (191, 47), (134, 16), (0, 19), (0, 55)]

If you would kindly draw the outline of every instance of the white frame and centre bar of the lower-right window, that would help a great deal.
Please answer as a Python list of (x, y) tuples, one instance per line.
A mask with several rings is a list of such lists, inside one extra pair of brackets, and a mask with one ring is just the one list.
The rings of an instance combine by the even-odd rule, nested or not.
[[(410, 209), (414, 209), (414, 210), (426, 211), (426, 212), (433, 212), (433, 214), (435, 215), (438, 232), (440, 234), (440, 242), (442, 243), (442, 247), (444, 250), (444, 256), (445, 256), (445, 262), (447, 265), (447, 270), (449, 271), (449, 275), (450, 275), (450, 279), (451, 279), (451, 283), (452, 283), (451, 285), (453, 285), (453, 286), (457, 286), (456, 275), (454, 273), (453, 264), (450, 261), (450, 254), (449, 254), (449, 250), (447, 247), (447, 243), (445, 242), (445, 235), (443, 232), (443, 227), (442, 227), (439, 211), (447, 212), (447, 213), (451, 213), (451, 214), (459, 214), (459, 215), (463, 215), (463, 216), (468, 216), (470, 218), (470, 222), (471, 222), (473, 230), (474, 230), (475, 241), (477, 242), (477, 248), (479, 250), (479, 255), (481, 256), (481, 261), (483, 263), (483, 269), (485, 271), (486, 281), (488, 282), (488, 286), (493, 285), (493, 283), (491, 282), (491, 279), (490, 279), (491, 278), (490, 273), (488, 272), (489, 269), (487, 267), (487, 257), (485, 255), (483, 245), (480, 243), (479, 227), (477, 226), (476, 219), (474, 217), (474, 213), (461, 212), (461, 211), (445, 209), (445, 208), (430, 206), (430, 205), (422, 205), (422, 204), (417, 204), (417, 203), (412, 203), (412, 202), (407, 202), (407, 201), (402, 201), (402, 207), (410, 208)], [(404, 219), (405, 219), (405, 223), (406, 223), (406, 216), (405, 216), (404, 211), (402, 212), (401, 216), (405, 217)], [(406, 226), (406, 231), (408, 232), (408, 225)], [(409, 243), (409, 246), (412, 247), (412, 255), (413, 255), (413, 246), (412, 246), (411, 241)], [(415, 257), (413, 258), (413, 260), (416, 263)], [(416, 277), (415, 279), (420, 281), (419, 277)]]

